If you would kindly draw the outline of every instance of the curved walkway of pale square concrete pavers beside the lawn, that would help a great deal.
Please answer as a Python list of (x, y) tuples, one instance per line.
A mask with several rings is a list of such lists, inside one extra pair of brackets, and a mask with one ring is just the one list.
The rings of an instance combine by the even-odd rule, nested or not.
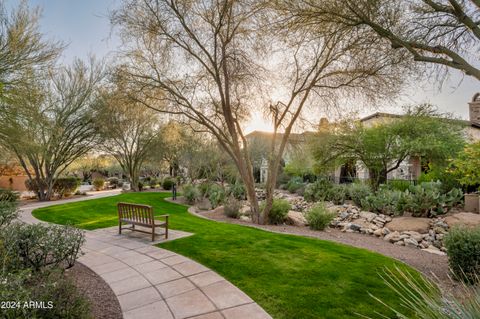
[[(27, 204), (20, 219), (40, 222), (35, 208), (113, 196)], [(171, 232), (171, 240), (192, 234)], [(205, 266), (174, 252), (152, 246), (149, 235), (117, 234), (116, 227), (86, 231), (85, 255), (79, 261), (99, 274), (120, 302), (125, 319), (269, 319), (259, 305)], [(157, 241), (159, 242), (159, 241)], [(155, 243), (157, 243), (155, 242)]]

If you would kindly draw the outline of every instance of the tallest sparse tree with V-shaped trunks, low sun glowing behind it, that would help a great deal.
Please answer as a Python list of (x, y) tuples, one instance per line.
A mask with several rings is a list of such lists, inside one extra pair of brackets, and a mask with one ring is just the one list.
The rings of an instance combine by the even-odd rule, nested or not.
[[(276, 10), (248, 0), (125, 0), (112, 16), (128, 48), (124, 76), (141, 90), (141, 103), (194, 122), (217, 139), (235, 163), (260, 223), (268, 220), (278, 167), (304, 107), (314, 98), (321, 107), (329, 104), (337, 89), (353, 94), (373, 92), (368, 89), (373, 84), (386, 87), (391, 81), (385, 78), (398, 74), (390, 71), (400, 61), (375, 54), (381, 46), (371, 46), (372, 39), (360, 33), (332, 28), (312, 37), (300, 29), (280, 32), (285, 17)], [(263, 83), (278, 78), (279, 69), (286, 75), (279, 82), (286, 94), (263, 103), (261, 92), (277, 84), (266, 88)], [(271, 114), (274, 134), (284, 131), (280, 142), (273, 138), (270, 146), (263, 214), (242, 129), (254, 105)]]

